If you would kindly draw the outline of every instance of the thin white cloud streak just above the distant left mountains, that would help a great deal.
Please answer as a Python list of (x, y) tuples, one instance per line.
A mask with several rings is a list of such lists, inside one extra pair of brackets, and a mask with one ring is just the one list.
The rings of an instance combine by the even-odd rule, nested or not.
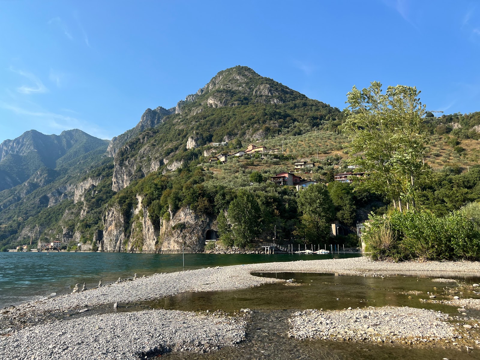
[(80, 129), (90, 135), (96, 136), (101, 139), (111, 139), (113, 136), (108, 134), (104, 129), (99, 128), (94, 124), (90, 124), (86, 121), (82, 121), (71, 116), (63, 114), (57, 114), (50, 111), (32, 111), (19, 106), (4, 103), (0, 101), (0, 108), (10, 110), (17, 115), (25, 115), (29, 117), (35, 117), (42, 119), (44, 125), (47, 125), (50, 129), (56, 130), (70, 130)]

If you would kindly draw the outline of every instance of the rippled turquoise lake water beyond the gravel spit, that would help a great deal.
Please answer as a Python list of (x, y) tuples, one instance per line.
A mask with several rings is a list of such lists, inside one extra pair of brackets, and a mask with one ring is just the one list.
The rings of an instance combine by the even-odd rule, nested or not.
[[(331, 259), (360, 254), (185, 254), (185, 269), (208, 266)], [(78, 283), (87, 288), (119, 277), (167, 273), (183, 269), (182, 254), (120, 252), (0, 252), (0, 309), (24, 301), (70, 291)]]

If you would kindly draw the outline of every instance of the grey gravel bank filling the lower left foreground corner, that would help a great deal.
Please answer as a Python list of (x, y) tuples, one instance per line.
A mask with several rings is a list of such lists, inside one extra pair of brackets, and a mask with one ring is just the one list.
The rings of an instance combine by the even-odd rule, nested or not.
[(239, 343), (246, 324), (240, 315), (174, 310), (92, 315), (3, 336), (0, 359), (133, 360), (169, 351), (203, 353)]

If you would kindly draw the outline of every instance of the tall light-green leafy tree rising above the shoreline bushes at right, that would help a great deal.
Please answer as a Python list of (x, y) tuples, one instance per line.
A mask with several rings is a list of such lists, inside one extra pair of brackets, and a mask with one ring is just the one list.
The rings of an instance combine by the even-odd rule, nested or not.
[(352, 165), (368, 172), (366, 183), (377, 193), (415, 206), (417, 181), (425, 167), (427, 137), (422, 130), (425, 106), (416, 87), (382, 84), (347, 94), (348, 118), (344, 133), (351, 138), (348, 153)]

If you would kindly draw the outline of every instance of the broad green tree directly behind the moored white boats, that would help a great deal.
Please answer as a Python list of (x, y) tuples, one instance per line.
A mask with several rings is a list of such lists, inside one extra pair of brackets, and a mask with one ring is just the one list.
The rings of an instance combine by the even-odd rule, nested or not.
[(327, 187), (324, 184), (313, 184), (301, 190), (298, 206), (302, 216), (294, 234), (307, 243), (328, 238), (335, 208)]

